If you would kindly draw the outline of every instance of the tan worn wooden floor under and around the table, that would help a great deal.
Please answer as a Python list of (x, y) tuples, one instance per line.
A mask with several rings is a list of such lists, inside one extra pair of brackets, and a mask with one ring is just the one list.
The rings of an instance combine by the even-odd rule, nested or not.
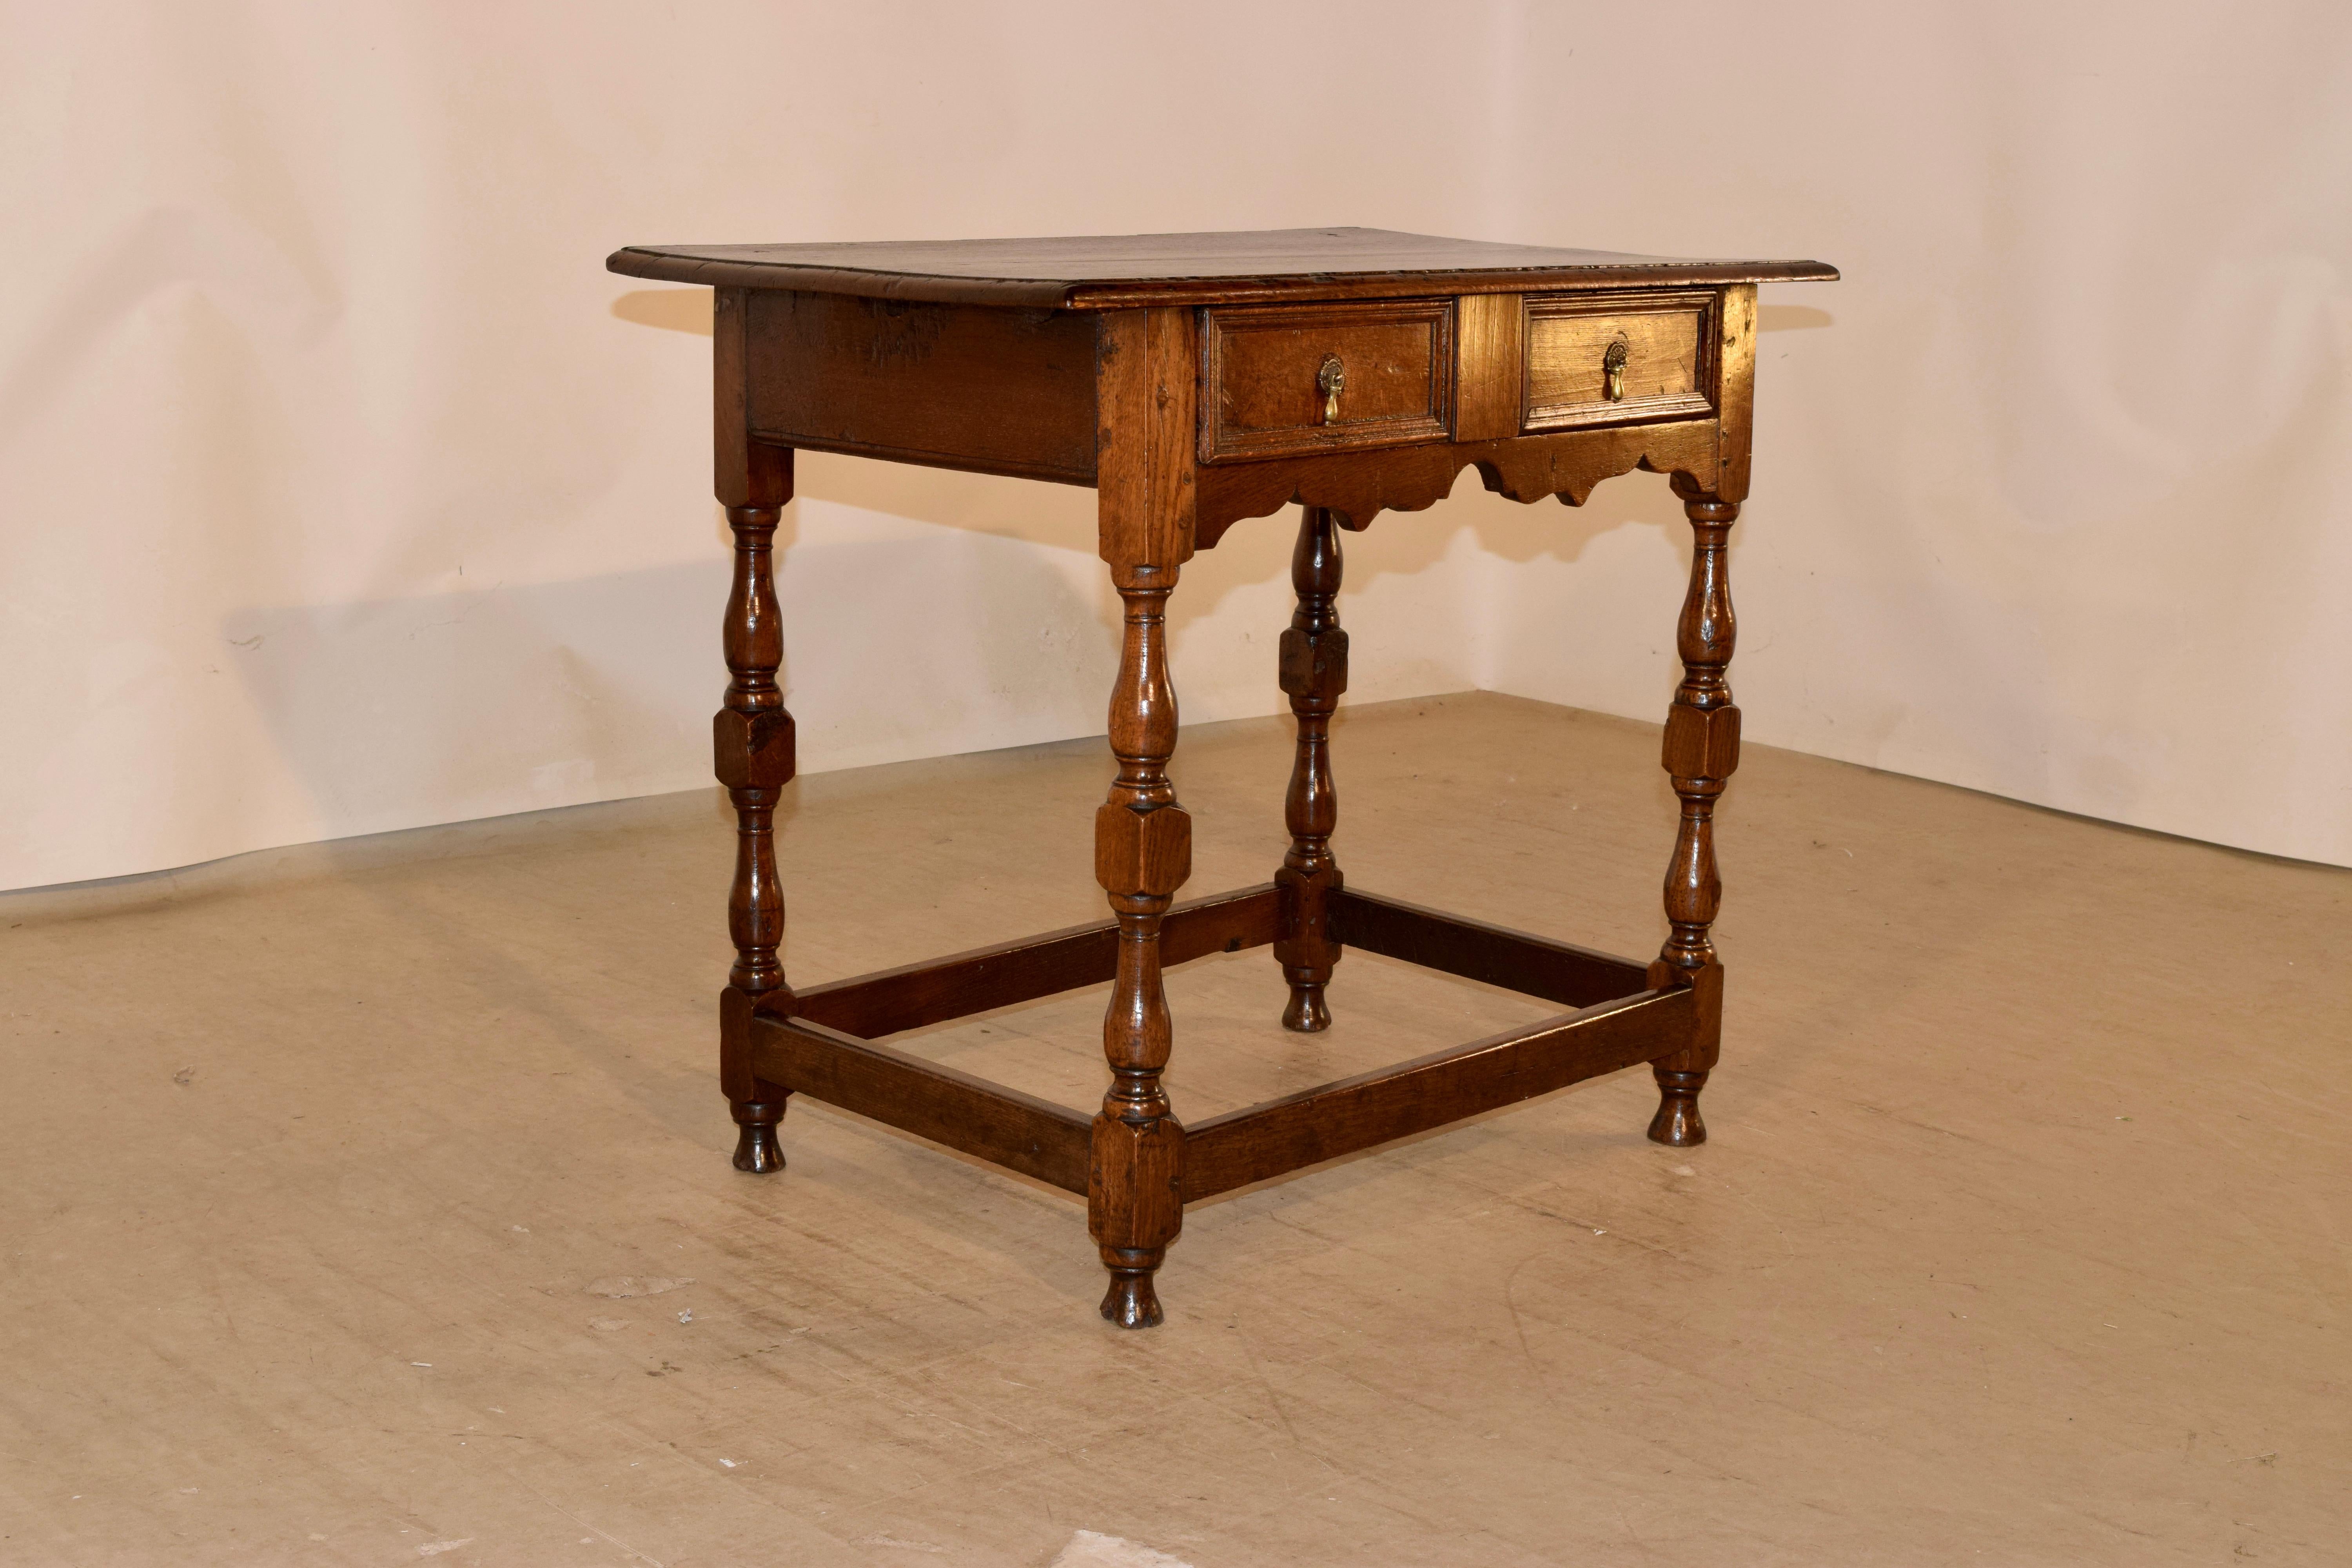
[[(1656, 748), (1343, 715), (1341, 863), (1649, 952)], [(1185, 733), (1195, 891), (1287, 773)], [(1094, 919), (1103, 778), (802, 780), (793, 978)], [(713, 792), (0, 898), (0, 1561), (2345, 1561), (2352, 872), (1750, 745), (1705, 1147), (1635, 1072), (1225, 1194), (1120, 1333), (1051, 1187), (800, 1103), (729, 1168), (729, 856)], [(1169, 992), (1188, 1119), (1545, 1011)], [(1091, 1110), (1101, 1001), (913, 1048)]]

